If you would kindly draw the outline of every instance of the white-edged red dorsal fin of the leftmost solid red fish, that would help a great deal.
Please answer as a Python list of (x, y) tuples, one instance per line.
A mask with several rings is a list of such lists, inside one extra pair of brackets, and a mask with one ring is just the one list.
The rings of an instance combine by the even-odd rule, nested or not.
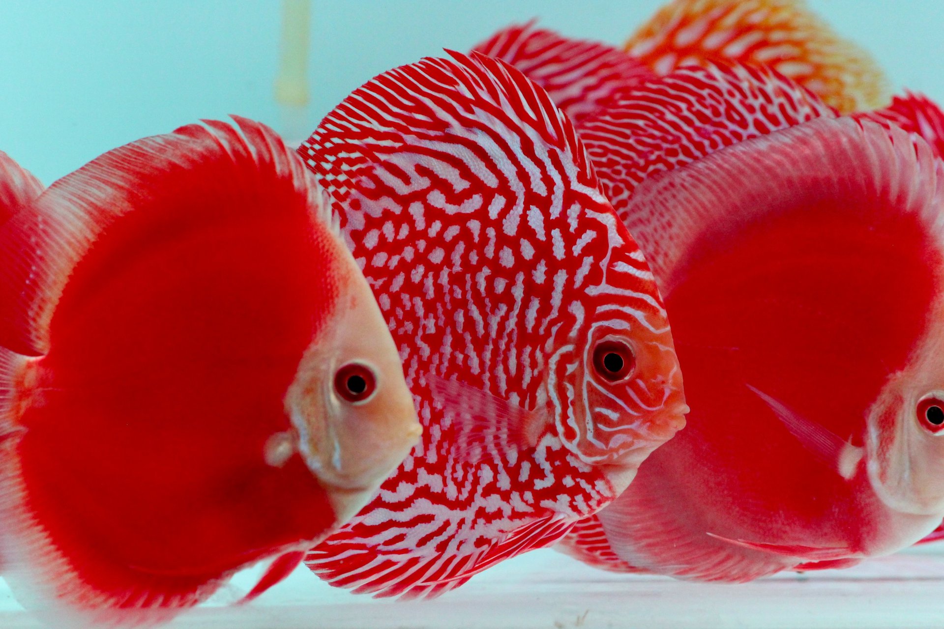
[[(149, 195), (157, 198), (166, 173), (196, 168), (212, 151), (228, 155), (232, 169), (259, 160), (295, 182), (311, 176), (273, 131), (234, 120), (237, 126), (191, 124), (114, 149), (59, 179), (7, 223), (0, 231), (0, 344), (25, 355), (45, 352), (45, 326), (69, 270), (110, 223)], [(312, 198), (310, 207), (326, 207), (316, 186), (305, 194)], [(329, 210), (322, 211), (329, 221)]]

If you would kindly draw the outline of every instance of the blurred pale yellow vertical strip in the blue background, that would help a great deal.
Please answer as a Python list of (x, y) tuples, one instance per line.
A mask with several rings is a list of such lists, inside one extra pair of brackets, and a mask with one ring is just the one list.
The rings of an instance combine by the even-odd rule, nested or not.
[(312, 131), (306, 117), (311, 32), (312, 0), (282, 0), (281, 52), (275, 95), (281, 109), (280, 130), (286, 141), (302, 141)]

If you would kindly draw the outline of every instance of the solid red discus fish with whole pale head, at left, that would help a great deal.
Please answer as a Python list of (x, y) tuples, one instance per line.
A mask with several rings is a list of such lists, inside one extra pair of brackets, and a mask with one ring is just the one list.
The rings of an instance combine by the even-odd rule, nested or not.
[(31, 201), (2, 162), (4, 577), (56, 626), (163, 621), (280, 556), (258, 594), (421, 430), (322, 190), (237, 124), (128, 144)]

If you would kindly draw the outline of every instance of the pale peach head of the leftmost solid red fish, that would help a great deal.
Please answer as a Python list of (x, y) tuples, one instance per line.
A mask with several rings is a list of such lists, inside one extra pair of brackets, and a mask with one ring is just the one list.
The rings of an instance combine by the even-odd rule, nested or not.
[[(303, 356), (285, 406), (295, 430), (289, 440), (343, 522), (374, 497), (422, 427), (370, 287), (343, 242), (330, 244), (338, 278), (334, 311)], [(273, 458), (280, 458), (279, 448), (293, 452), (293, 445), (277, 440)]]

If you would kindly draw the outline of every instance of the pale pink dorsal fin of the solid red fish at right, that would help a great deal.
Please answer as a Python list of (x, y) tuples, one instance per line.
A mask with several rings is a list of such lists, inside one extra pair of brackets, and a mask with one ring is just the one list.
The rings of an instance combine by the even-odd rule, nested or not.
[[(653, 272), (664, 279), (663, 290), (670, 292), (672, 274), (681, 273), (678, 263), (707, 226), (717, 235), (781, 207), (802, 207), (803, 199), (811, 207), (840, 194), (873, 204), (881, 200), (880, 207), (915, 212), (932, 233), (939, 233), (944, 226), (936, 206), (944, 185), (941, 169), (944, 163), (934, 158), (927, 142), (897, 127), (819, 119), (651, 177), (617, 211), (646, 251)], [(674, 202), (666, 206), (659, 195)]]

